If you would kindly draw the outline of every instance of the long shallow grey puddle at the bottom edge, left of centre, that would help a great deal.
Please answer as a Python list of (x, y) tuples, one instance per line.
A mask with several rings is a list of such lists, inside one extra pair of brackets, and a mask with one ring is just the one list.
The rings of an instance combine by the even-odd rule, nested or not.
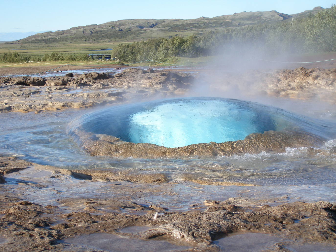
[[(113, 252), (137, 251), (137, 252), (168, 252), (172, 250), (188, 249), (187, 246), (177, 246), (160, 240), (137, 240), (124, 238), (107, 233), (94, 233), (80, 235), (60, 241), (61, 243), (78, 245), (77, 251), (85, 249), (103, 249)], [(111, 250), (112, 249), (112, 250)]]

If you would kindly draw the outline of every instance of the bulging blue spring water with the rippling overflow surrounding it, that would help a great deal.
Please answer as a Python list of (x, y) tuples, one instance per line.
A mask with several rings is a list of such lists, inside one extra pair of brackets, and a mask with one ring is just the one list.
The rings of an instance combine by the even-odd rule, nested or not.
[[(218, 104), (226, 104), (227, 108), (219, 108)], [(183, 110), (181, 109), (177, 113), (172, 111), (173, 108), (183, 108)], [(178, 122), (175, 118), (173, 123), (166, 123), (168, 119), (163, 118), (164, 109), (168, 111), (166, 115), (168, 114), (171, 117), (178, 114), (182, 122)], [(235, 113), (236, 109), (242, 111)], [(183, 112), (191, 114), (193, 119), (183, 119)], [(148, 118), (155, 117), (158, 121), (152, 123), (152, 120), (145, 117), (146, 113), (149, 114)], [(205, 119), (200, 119), (197, 116), (200, 114), (204, 115)], [(216, 118), (215, 115), (220, 115), (221, 119)], [(148, 133), (151, 128), (158, 129), (158, 125), (164, 126), (160, 130), (164, 130), (167, 136), (174, 134), (172, 140), (176, 138), (175, 135), (182, 133), (183, 136), (188, 135), (191, 136), (190, 139), (193, 139), (194, 135), (197, 134), (196, 127), (201, 127), (200, 130), (203, 130), (203, 133), (198, 134), (198, 136), (203, 137), (204, 135), (208, 138), (203, 138), (203, 140), (197, 138), (194, 143), (225, 141), (224, 138), (211, 139), (211, 136), (218, 137), (216, 132), (223, 132), (220, 120), (224, 120), (226, 115), (230, 116), (231, 121), (228, 121), (225, 126), (232, 125), (234, 120), (238, 121), (243, 118), (246, 128), (241, 127), (243, 124), (237, 126), (241, 127), (241, 136), (236, 136), (239, 138), (245, 138), (247, 134), (255, 130), (259, 132), (263, 130), (278, 132), (278, 130), (283, 129), (301, 130), (325, 140), (317, 147), (311, 148), (311, 145), (308, 145), (308, 147), (302, 148), (286, 148), (283, 153), (257, 150), (252, 154), (250, 149), (247, 149), (245, 153), (230, 156), (221, 154), (216, 156), (175, 155), (172, 157), (132, 156), (133, 151), (139, 149), (138, 145), (141, 145), (141, 143), (135, 144), (128, 141), (134, 140), (135, 136), (140, 138), (142, 135), (138, 133), (139, 130), (144, 129), (143, 132)], [(1, 113), (0, 118), (2, 121), (0, 125), (0, 152), (3, 155), (13, 155), (30, 162), (69, 170), (104, 169), (134, 175), (160, 173), (165, 174), (170, 181), (176, 183), (190, 179), (210, 179), (211, 181), (233, 181), (264, 185), (331, 183), (334, 181), (336, 172), (334, 169), (336, 141), (332, 140), (335, 138), (334, 121), (303, 117), (282, 109), (249, 101), (212, 97), (165, 99), (115, 107), (65, 110), (56, 113)], [(209, 121), (211, 118), (214, 119), (214, 123)], [(185, 123), (191, 125), (187, 129), (193, 129), (192, 133), (182, 132), (182, 126)], [(212, 130), (214, 132), (207, 132), (209, 130), (204, 130), (206, 128), (214, 129)], [(135, 136), (130, 136), (130, 129), (136, 132)], [(230, 127), (228, 129), (230, 130)], [(168, 133), (169, 130), (172, 133)], [(229, 130), (228, 132), (230, 132)], [(162, 133), (153, 132), (153, 134), (160, 137)], [(94, 141), (100, 141), (101, 138), (108, 138), (109, 136), (111, 136), (111, 140), (108, 139), (104, 143), (113, 143), (114, 136), (118, 136), (126, 144), (134, 145), (130, 148), (131, 156), (126, 158), (123, 156), (92, 156), (85, 148), (83, 149), (83, 143), (86, 140), (92, 140), (95, 144)], [(155, 139), (152, 133), (147, 134), (146, 137)], [(227, 137), (227, 134), (222, 134), (221, 137)], [(234, 139), (235, 136), (230, 137)], [(170, 140), (168, 137), (167, 139)], [(269, 140), (271, 144), (274, 144), (273, 138)], [(162, 145), (162, 140), (160, 141)], [(237, 141), (229, 143), (230, 146), (236, 145)], [(115, 145), (121, 146), (122, 144), (117, 142)], [(184, 144), (184, 142), (180, 144)], [(165, 148), (154, 144), (144, 145), (146, 148), (149, 147), (154, 150), (160, 147), (163, 152), (179, 148), (187, 150), (188, 148), (193, 149), (193, 146), (200, 146), (200, 149), (206, 152), (208, 145), (212, 146), (214, 144), (188, 145), (192, 148), (188, 146)], [(100, 145), (97, 146), (101, 148)], [(220, 148), (219, 145), (218, 149)], [(114, 153), (123, 154), (122, 151), (122, 149), (115, 150)], [(143, 151), (148, 152), (145, 148)]]

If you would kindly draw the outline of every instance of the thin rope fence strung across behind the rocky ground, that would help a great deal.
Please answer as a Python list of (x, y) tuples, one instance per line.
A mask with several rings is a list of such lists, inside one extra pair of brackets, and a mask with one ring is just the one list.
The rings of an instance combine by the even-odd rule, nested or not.
[[(111, 58), (111, 59), (115, 59), (117, 57)], [(0, 67), (10, 67), (10, 66), (16, 66), (16, 65), (20, 65), (20, 64), (25, 64), (25, 63), (29, 63), (29, 62), (33, 62), (33, 63), (39, 63), (39, 64), (48, 64), (48, 65), (61, 65), (60, 67), (57, 68), (53, 68), (47, 71), (43, 71), (40, 73), (35, 73), (35, 74), (29, 74), (26, 76), (31, 76), (31, 75), (36, 75), (36, 74), (42, 74), (42, 73), (46, 73), (46, 72), (50, 72), (53, 70), (56, 70), (58, 68), (62, 68), (62, 67), (66, 67), (68, 66), (76, 66), (76, 67), (96, 67), (96, 66), (83, 66), (86, 64), (92, 64), (92, 63), (96, 63), (96, 62), (102, 62), (102, 61), (107, 61), (107, 60), (111, 60), (111, 59), (103, 59), (103, 60), (98, 60), (98, 61), (93, 61), (93, 62), (84, 62), (84, 63), (78, 63), (78, 64), (57, 64), (57, 63), (47, 63), (47, 62), (37, 62), (37, 61), (26, 61), (26, 62), (22, 62), (22, 63), (17, 63), (17, 64), (12, 64), (12, 65), (5, 65), (5, 66), (0, 66)], [(252, 58), (253, 59), (253, 58)], [(274, 62), (274, 63), (286, 63), (286, 64), (306, 64), (306, 63), (317, 63), (317, 62), (324, 62), (324, 61), (331, 61), (331, 60), (336, 60), (336, 58), (333, 59), (326, 59), (326, 60), (319, 60), (319, 61), (309, 61), (309, 62), (285, 62), (285, 61), (274, 61), (274, 60), (267, 60), (267, 59), (255, 59), (255, 60), (261, 60), (261, 61), (267, 61), (267, 62)], [(225, 66), (225, 65), (229, 65), (229, 63), (225, 63), (225, 64), (220, 64), (220, 65), (204, 65), (204, 66), (193, 66), (193, 65), (178, 65), (178, 64), (171, 64), (171, 63), (167, 63), (167, 62), (161, 62), (161, 61), (156, 61), (156, 60), (152, 60), (152, 59), (146, 59), (146, 60), (142, 60), (142, 61), (138, 61), (138, 62), (133, 62), (133, 63), (128, 63), (128, 64), (122, 64), (122, 65), (111, 65), (111, 66), (104, 66), (104, 67), (121, 67), (121, 66), (128, 66), (128, 65), (134, 65), (134, 64), (139, 64), (142, 62), (156, 62), (156, 63), (160, 63), (160, 64), (166, 64), (166, 65), (170, 65), (170, 66), (178, 66), (178, 67), (218, 67), (218, 66)]]

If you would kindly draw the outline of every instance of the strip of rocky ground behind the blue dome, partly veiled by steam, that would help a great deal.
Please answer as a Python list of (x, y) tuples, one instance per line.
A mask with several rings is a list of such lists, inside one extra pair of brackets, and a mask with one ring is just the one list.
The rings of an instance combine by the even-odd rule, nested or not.
[(225, 73), (209, 69), (193, 75), (129, 68), (122, 73), (86, 73), (56, 77), (1, 77), (0, 111), (36, 112), (87, 108), (164, 97), (233, 93), (291, 99), (319, 99), (335, 104), (336, 69)]

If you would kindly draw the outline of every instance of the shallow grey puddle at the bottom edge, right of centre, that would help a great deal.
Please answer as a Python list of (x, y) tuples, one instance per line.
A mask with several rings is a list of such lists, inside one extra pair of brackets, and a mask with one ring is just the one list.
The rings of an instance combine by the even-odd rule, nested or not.
[[(272, 250), (274, 244), (284, 241), (283, 238), (261, 233), (234, 233), (214, 241), (220, 251), (225, 252), (256, 252)], [(306, 251), (305, 251), (306, 252)]]

